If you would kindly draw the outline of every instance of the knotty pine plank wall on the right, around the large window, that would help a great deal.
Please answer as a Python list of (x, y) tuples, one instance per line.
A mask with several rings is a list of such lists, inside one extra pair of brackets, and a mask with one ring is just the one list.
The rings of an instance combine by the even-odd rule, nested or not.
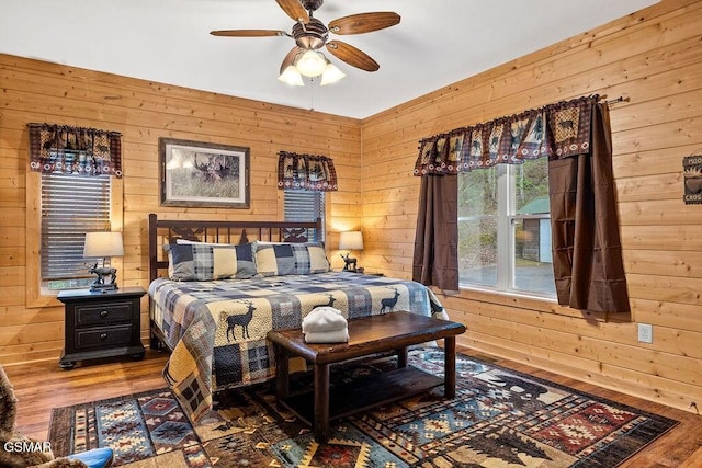
[[(702, 401), (702, 205), (682, 202), (682, 158), (702, 148), (702, 2), (664, 0), (363, 122), (363, 264), (411, 277), (422, 137), (552, 102), (611, 105), (632, 315), (462, 290), (442, 296), (460, 343), (694, 411)], [(653, 323), (653, 344), (636, 322)]]

